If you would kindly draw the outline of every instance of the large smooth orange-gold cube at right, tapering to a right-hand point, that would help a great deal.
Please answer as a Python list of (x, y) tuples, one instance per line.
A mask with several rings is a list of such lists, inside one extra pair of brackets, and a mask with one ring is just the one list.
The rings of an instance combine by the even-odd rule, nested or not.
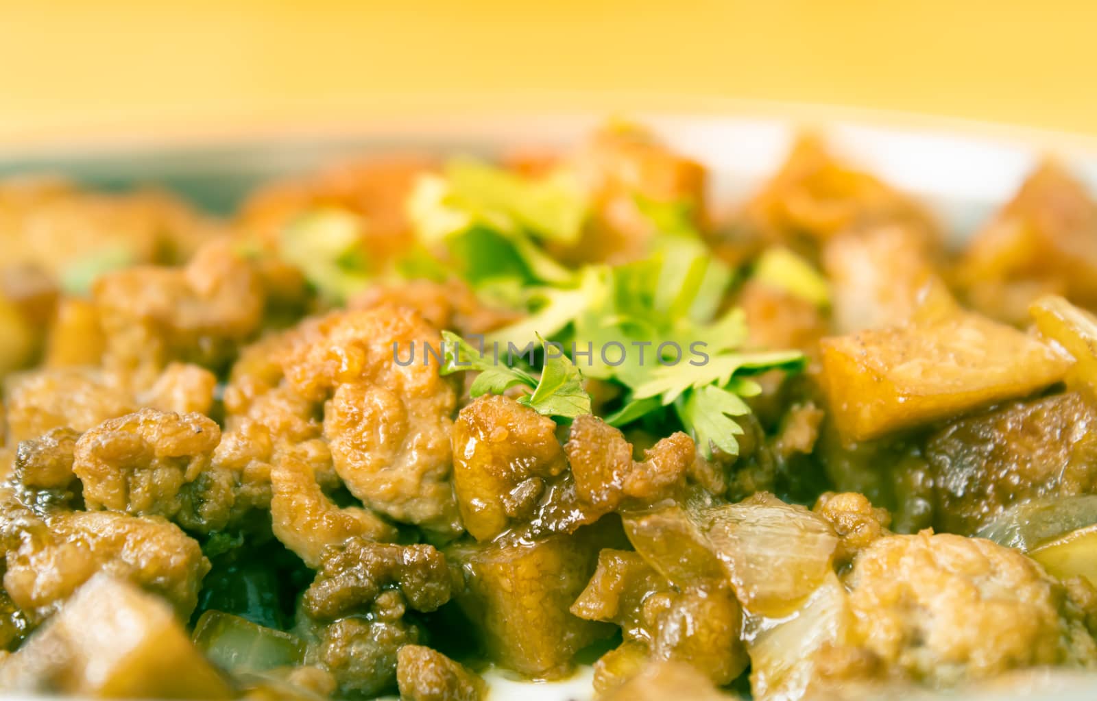
[(822, 347), (823, 385), (847, 441), (1032, 394), (1073, 363), (1031, 336), (960, 310), (827, 338)]

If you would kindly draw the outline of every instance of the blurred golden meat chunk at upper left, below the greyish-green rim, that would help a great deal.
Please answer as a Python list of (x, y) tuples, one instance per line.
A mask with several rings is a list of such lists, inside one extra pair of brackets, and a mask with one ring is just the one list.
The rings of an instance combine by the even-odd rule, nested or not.
[(185, 268), (136, 267), (93, 289), (106, 361), (156, 372), (171, 360), (218, 368), (258, 330), (264, 294), (252, 264), (227, 240), (204, 246)]

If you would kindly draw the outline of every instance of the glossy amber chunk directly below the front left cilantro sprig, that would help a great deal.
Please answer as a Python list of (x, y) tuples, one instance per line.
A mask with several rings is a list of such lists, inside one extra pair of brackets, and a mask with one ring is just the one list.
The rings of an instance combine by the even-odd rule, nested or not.
[(528, 520), (546, 480), (567, 470), (556, 423), (500, 395), (461, 409), (453, 425), (453, 489), (461, 520), (477, 540)]

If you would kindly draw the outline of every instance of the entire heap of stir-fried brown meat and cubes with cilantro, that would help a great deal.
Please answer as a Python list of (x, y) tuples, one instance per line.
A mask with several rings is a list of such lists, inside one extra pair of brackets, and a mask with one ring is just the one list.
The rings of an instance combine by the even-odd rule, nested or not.
[[(0, 183), (0, 689), (855, 699), (1097, 667), (1097, 201), (815, 137)], [(1095, 682), (1097, 688), (1097, 682)]]

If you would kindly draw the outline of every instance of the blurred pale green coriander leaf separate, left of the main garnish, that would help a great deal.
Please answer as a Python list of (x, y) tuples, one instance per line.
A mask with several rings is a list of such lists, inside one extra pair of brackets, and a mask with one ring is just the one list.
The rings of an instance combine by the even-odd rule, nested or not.
[(282, 230), (282, 258), (301, 270), (321, 295), (346, 302), (371, 280), (362, 249), (364, 226), (361, 217), (342, 210), (306, 213)]

